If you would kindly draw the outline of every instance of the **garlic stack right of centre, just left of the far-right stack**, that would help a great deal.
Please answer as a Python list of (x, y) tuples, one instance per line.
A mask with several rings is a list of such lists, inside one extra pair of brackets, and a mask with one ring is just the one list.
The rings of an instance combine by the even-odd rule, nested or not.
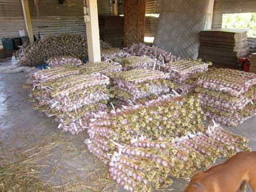
[(194, 90), (198, 76), (208, 71), (210, 65), (211, 63), (202, 62), (201, 59), (183, 59), (164, 64), (160, 70), (170, 74), (170, 80), (177, 83), (176, 91), (183, 95)]

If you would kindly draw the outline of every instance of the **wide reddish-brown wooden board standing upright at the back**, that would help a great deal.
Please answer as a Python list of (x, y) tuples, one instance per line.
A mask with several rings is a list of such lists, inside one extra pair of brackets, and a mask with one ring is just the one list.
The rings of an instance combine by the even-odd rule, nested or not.
[(144, 42), (145, 0), (124, 2), (124, 46)]

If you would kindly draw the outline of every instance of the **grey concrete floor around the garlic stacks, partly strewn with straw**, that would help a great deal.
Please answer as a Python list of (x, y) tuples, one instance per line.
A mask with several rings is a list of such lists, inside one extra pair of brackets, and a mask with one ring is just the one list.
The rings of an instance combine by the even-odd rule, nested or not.
[[(8, 64), (2, 62), (0, 67)], [(67, 191), (69, 184), (88, 186), (77, 191), (125, 191), (106, 177), (106, 166), (86, 149), (86, 132), (64, 134), (52, 118), (33, 109), (27, 101), (28, 90), (22, 87), (26, 80), (25, 73), (0, 74), (0, 149), (24, 151), (34, 147), (31, 151), (38, 163), (47, 165), (40, 170), (42, 181), (59, 191)], [(256, 150), (256, 117), (227, 130), (249, 137), (249, 146)], [(45, 146), (50, 147), (46, 150)], [(188, 184), (188, 180), (173, 181), (170, 188), (161, 191), (183, 191)]]

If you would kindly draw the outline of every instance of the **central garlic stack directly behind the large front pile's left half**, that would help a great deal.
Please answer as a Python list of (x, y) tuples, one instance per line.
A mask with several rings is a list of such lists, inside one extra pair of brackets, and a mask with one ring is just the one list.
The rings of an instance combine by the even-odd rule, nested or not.
[(173, 84), (167, 78), (163, 72), (153, 70), (123, 71), (113, 77), (113, 93), (119, 104), (134, 104), (140, 99), (169, 93)]

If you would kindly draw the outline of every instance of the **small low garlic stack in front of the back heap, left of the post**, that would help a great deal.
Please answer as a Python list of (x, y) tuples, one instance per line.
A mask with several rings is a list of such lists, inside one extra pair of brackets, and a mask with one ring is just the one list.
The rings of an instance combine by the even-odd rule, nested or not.
[(83, 64), (83, 62), (80, 59), (77, 59), (73, 56), (56, 56), (53, 58), (50, 58), (46, 61), (47, 66), (54, 68), (59, 66), (64, 66), (66, 64), (72, 65), (72, 66), (79, 66)]

